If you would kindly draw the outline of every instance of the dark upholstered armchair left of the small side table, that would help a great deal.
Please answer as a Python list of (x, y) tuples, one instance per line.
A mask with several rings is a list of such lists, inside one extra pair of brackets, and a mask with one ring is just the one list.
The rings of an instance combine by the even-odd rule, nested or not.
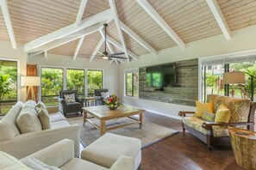
[[(65, 94), (75, 94), (75, 102), (66, 103)], [(63, 90), (59, 92), (59, 112), (62, 112), (64, 116), (70, 112), (81, 112), (82, 114), (82, 102), (78, 99), (77, 90)]]

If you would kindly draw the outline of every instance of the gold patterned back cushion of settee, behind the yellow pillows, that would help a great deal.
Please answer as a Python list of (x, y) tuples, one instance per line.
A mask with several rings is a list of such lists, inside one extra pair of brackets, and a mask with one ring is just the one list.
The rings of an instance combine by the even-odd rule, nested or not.
[(226, 105), (230, 110), (230, 123), (248, 121), (248, 115), (250, 112), (250, 100), (222, 96), (217, 94), (209, 94), (207, 96), (207, 100), (213, 102), (214, 112), (217, 111), (217, 108), (220, 105)]

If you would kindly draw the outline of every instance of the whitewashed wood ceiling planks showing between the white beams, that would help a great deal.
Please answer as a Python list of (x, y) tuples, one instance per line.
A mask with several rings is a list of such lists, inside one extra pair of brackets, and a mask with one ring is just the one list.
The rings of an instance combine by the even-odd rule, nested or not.
[[(147, 0), (184, 43), (221, 34), (206, 0)], [(80, 0), (7, 0), (16, 41), (26, 44), (48, 33), (66, 27), (78, 15)], [(230, 31), (256, 24), (255, 0), (217, 0)], [(109, 9), (109, 0), (88, 0), (82, 19)], [(177, 46), (159, 24), (135, 0), (116, 0), (119, 19), (156, 51)], [(115, 21), (109, 22), (108, 34), (121, 45)], [(140, 56), (149, 53), (136, 40), (123, 32), (129, 51)], [(102, 36), (99, 32), (84, 37), (78, 57), (90, 58)], [(0, 9), (0, 40), (9, 34)], [(49, 53), (73, 56), (78, 39), (49, 50)], [(112, 46), (114, 52), (120, 52)], [(103, 51), (103, 46), (100, 48)], [(109, 50), (108, 50), (109, 52)]]

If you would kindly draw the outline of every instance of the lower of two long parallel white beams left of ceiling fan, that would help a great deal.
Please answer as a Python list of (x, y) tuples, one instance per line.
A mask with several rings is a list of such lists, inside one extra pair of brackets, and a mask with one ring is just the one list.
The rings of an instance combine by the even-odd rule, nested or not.
[(91, 33), (95, 33), (103, 27), (102, 23), (98, 23), (97, 25), (91, 26), (91, 27), (86, 27), (83, 30), (80, 30), (79, 33), (76, 36), (68, 36), (68, 38), (63, 38), (63, 39), (56, 39), (53, 42), (48, 43), (47, 45), (35, 48), (35, 52), (44, 52), (44, 51), (49, 51), (53, 48), (56, 48), (58, 46), (65, 45), (66, 43), (69, 43), (75, 39), (79, 39), (83, 36), (86, 36)]

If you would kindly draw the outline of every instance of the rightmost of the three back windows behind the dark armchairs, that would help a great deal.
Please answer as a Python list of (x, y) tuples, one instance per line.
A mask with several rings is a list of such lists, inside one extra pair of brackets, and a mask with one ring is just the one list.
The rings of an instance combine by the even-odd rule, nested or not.
[(103, 71), (102, 70), (87, 71), (87, 88), (88, 88), (88, 96), (94, 95), (94, 89), (103, 88)]

